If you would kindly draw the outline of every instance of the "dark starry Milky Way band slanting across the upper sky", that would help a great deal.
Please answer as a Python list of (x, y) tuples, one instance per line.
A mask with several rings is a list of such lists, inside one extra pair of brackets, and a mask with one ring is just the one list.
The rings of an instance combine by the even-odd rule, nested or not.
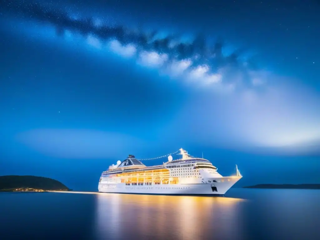
[[(250, 60), (245, 62), (239, 60), (243, 51), (237, 50), (230, 55), (223, 55), (222, 41), (215, 44), (207, 44), (204, 35), (198, 35), (191, 43), (182, 43), (180, 39), (173, 36), (156, 38), (157, 31), (146, 33), (142, 30), (130, 30), (125, 26), (107, 26), (96, 24), (93, 16), (91, 18), (72, 18), (72, 11), (66, 8), (53, 7), (28, 1), (4, 0), (3, 9), (6, 13), (22, 15), (38, 22), (49, 23), (56, 28), (56, 34), (63, 36), (68, 30), (72, 33), (81, 34), (84, 37), (94, 36), (99, 41), (108, 42), (115, 40), (121, 46), (134, 46), (133, 52), (141, 53), (141, 56), (148, 57), (144, 62), (152, 65), (163, 65), (164, 62), (179, 62), (171, 68), (181, 68), (182, 71), (188, 70), (188, 76), (194, 78), (205, 78), (207, 83), (219, 82), (223, 77), (224, 82), (233, 82), (233, 75), (241, 75), (242, 84), (256, 85), (254, 82), (257, 77), (251, 76), (253, 68)], [(130, 45), (128, 45), (130, 44)], [(153, 55), (152, 55), (153, 54)], [(141, 61), (140, 61), (141, 62)], [(146, 65), (146, 64), (145, 64)], [(226, 68), (228, 70), (226, 71)], [(178, 69), (179, 70), (179, 69)], [(176, 74), (177, 70), (174, 70)], [(179, 71), (178, 71), (179, 72)], [(214, 74), (220, 74), (219, 76)], [(251, 74), (250, 74), (251, 73)]]

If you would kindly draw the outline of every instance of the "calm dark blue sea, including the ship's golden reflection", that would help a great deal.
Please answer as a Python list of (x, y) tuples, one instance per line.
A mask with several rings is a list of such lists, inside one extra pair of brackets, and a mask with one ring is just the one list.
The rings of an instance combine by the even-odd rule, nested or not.
[(0, 239), (320, 239), (319, 190), (0, 193)]

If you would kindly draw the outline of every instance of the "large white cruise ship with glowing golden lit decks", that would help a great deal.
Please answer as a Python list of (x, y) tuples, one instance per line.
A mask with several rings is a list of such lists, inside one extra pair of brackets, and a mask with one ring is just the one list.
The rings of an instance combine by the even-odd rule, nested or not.
[[(180, 153), (179, 153), (180, 151)], [(193, 157), (184, 149), (176, 153), (182, 156), (161, 165), (146, 166), (135, 156), (118, 161), (99, 180), (99, 192), (159, 194), (159, 195), (224, 195), (242, 178), (236, 165), (236, 174), (222, 177), (217, 167), (199, 157)]]

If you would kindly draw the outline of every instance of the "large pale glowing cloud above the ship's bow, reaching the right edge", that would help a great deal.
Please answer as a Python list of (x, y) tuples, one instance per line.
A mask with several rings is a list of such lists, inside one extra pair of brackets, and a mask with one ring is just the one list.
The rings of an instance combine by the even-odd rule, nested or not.
[(295, 154), (317, 148), (320, 152), (318, 102), (315, 92), (290, 84), (227, 96), (201, 92), (180, 108), (165, 132), (175, 131), (177, 141), (210, 147)]

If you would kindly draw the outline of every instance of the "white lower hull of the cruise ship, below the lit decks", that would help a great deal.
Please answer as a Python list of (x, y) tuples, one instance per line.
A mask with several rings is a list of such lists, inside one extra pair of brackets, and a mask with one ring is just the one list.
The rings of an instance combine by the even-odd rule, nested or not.
[(154, 184), (147, 186), (132, 186), (125, 183), (100, 182), (99, 192), (126, 193), (126, 194), (159, 194), (159, 195), (224, 195), (239, 179), (237, 177), (221, 177), (205, 179), (211, 183), (185, 183), (185, 184)]

